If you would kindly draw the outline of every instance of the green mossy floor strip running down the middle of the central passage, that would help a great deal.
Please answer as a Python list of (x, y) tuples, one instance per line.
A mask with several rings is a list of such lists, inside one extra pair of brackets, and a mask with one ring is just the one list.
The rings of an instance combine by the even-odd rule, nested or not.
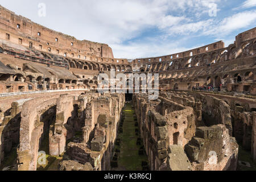
[(115, 147), (121, 152), (118, 156), (118, 168), (124, 169), (126, 171), (141, 171), (142, 162), (147, 161), (147, 156), (139, 155), (139, 148), (137, 146), (137, 136), (135, 135), (134, 123), (134, 111), (131, 108), (131, 104), (127, 104), (125, 107), (125, 121), (123, 122), (123, 133), (118, 135), (118, 138), (121, 139), (121, 146)]

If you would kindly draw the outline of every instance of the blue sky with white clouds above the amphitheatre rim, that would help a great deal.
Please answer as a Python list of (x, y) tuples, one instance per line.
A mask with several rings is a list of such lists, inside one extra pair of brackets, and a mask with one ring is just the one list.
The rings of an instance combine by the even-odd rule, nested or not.
[[(39, 16), (40, 3), (46, 16)], [(109, 44), (114, 57), (170, 55), (254, 28), (256, 0), (0, 0), (33, 22)], [(42, 6), (41, 6), (42, 7)]]

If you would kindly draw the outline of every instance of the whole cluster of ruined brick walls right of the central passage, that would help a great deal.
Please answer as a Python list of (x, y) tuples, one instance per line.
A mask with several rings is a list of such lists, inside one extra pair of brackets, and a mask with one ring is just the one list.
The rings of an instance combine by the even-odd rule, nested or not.
[(133, 103), (151, 170), (236, 170), (238, 144), (226, 102), (168, 92), (155, 101), (135, 94)]

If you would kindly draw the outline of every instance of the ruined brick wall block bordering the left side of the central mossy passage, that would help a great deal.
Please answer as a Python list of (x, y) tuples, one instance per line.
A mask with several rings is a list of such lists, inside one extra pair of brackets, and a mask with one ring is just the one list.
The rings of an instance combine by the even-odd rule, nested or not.
[(60, 169), (69, 170), (68, 166), (76, 161), (87, 170), (110, 170), (112, 150), (124, 104), (124, 94), (107, 94), (87, 102), (82, 139), (80, 142), (68, 143)]

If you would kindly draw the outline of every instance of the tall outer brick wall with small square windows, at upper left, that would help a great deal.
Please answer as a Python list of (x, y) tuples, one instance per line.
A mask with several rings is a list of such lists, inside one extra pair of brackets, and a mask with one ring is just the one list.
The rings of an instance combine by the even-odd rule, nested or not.
[(18, 16), (0, 6), (0, 38), (11, 43), (35, 48), (57, 55), (73, 57), (97, 56), (113, 58), (112, 48), (107, 44), (77, 40), (76, 38), (53, 31), (30, 19)]

